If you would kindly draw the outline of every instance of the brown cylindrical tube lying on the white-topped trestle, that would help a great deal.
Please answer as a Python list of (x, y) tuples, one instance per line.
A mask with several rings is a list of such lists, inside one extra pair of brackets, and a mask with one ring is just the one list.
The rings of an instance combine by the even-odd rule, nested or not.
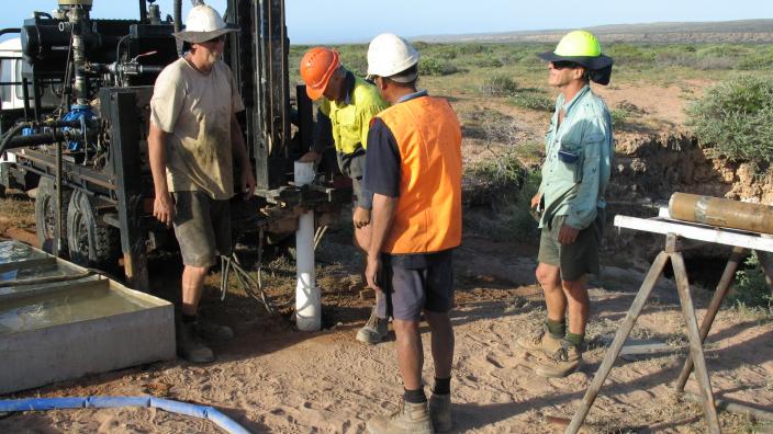
[(677, 220), (773, 233), (773, 206), (762, 204), (677, 192), (669, 201), (669, 214)]

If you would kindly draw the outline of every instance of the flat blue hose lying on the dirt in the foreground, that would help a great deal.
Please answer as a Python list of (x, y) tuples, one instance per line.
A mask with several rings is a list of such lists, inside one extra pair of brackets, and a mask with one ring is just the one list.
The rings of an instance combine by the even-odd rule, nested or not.
[(117, 407), (156, 408), (170, 413), (210, 420), (231, 434), (249, 434), (249, 431), (245, 430), (233, 419), (213, 407), (197, 406), (155, 397), (74, 397), (0, 400), (0, 412), (4, 413), (61, 409), (112, 409)]

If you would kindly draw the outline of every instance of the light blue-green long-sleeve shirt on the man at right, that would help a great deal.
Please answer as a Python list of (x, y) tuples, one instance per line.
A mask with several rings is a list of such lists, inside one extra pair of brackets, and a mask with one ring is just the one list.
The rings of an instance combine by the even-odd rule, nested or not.
[[(561, 108), (565, 115), (557, 128)], [(609, 110), (590, 85), (569, 102), (562, 94), (556, 100), (545, 153), (539, 186), (545, 213), (539, 227), (553, 216), (567, 216), (567, 225), (585, 229), (596, 218), (596, 208), (606, 207), (604, 191), (614, 155)]]

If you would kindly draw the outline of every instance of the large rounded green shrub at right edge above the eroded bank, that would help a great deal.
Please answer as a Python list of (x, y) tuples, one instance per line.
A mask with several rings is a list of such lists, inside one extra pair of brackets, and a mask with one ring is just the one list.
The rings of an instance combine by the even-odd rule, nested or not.
[(730, 160), (773, 161), (773, 80), (741, 76), (712, 89), (688, 108), (702, 146)]

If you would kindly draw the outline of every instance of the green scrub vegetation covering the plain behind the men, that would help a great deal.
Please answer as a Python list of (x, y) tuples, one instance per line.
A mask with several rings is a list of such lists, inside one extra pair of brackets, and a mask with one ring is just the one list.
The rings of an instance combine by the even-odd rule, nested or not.
[[(458, 107), (466, 140), (482, 144), (466, 165), (466, 182), (489, 185), (485, 201), (495, 225), (507, 232), (525, 233), (531, 225), (527, 210), (538, 180), (541, 142), (518, 135), (505, 107), (533, 113), (530, 122), (544, 123), (554, 108), (558, 92), (546, 83), (546, 65), (537, 54), (550, 50), (544, 43), (425, 43), (414, 42), (422, 54), (419, 88), (449, 96)], [(679, 87), (693, 100), (688, 110), (693, 133), (717, 156), (752, 161), (760, 173), (773, 157), (773, 47), (765, 44), (605, 43), (615, 59), (612, 90), (626, 87)], [(292, 46), (290, 65), (298, 65), (309, 46)], [(367, 44), (336, 46), (355, 73), (367, 72)], [(694, 94), (696, 82), (719, 83), (705, 94)], [(291, 82), (300, 82), (296, 68)], [(496, 110), (491, 110), (497, 107)], [(627, 102), (609, 105), (616, 132), (657, 130), (643, 112)], [(536, 121), (535, 121), (536, 119)], [(525, 142), (531, 140), (531, 142)], [(530, 149), (529, 152), (524, 149)], [(489, 152), (494, 151), (495, 153)], [(537, 183), (538, 184), (538, 183)], [(535, 186), (536, 189), (536, 186)], [(481, 189), (474, 189), (480, 192)], [(475, 196), (472, 203), (483, 197)], [(524, 202), (526, 201), (526, 202)], [(522, 209), (522, 210), (518, 210)]]

